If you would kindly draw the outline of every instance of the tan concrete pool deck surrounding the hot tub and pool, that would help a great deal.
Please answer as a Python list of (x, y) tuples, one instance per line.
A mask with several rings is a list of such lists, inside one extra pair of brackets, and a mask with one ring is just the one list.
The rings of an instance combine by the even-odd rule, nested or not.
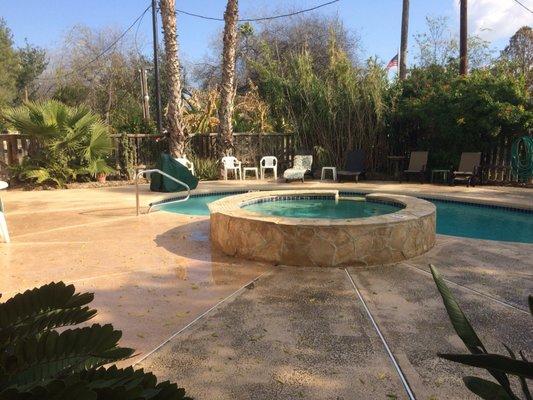
[[(199, 191), (240, 187), (346, 188), (533, 207), (531, 189), (490, 186), (227, 181), (202, 183)], [(435, 355), (464, 347), (429, 262), (450, 281), (487, 347), (503, 352), (503, 341), (533, 356), (524, 328), (531, 324), (530, 244), (438, 235), (429, 253), (394, 266), (304, 268), (302, 275), (212, 251), (207, 217), (136, 217), (133, 186), (1, 195), (12, 236), (0, 244), (2, 299), (59, 280), (95, 292), (95, 322), (122, 329), (122, 344), (138, 350), (134, 362), (148, 355), (140, 366), (196, 398), (406, 398), (351, 278), (417, 398), (473, 399), (460, 376), (484, 374)], [(143, 206), (164, 197), (142, 186)]]

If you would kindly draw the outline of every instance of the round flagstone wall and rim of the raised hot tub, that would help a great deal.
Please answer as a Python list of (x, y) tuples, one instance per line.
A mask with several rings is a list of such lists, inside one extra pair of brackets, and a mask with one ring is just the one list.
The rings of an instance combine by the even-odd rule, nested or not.
[(414, 197), (369, 194), (368, 201), (403, 205), (390, 214), (354, 219), (263, 216), (242, 205), (265, 197), (335, 196), (337, 191), (272, 191), (210, 204), (211, 242), (228, 255), (274, 264), (335, 267), (402, 261), (435, 243), (435, 206)]

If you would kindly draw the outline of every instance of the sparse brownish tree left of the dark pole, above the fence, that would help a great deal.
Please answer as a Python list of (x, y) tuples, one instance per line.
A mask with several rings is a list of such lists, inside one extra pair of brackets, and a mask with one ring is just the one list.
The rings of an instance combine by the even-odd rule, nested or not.
[(116, 130), (140, 118), (137, 71), (146, 61), (135, 51), (133, 37), (125, 36), (112, 46), (120, 34), (110, 27), (76, 25), (70, 29), (37, 80), (39, 97), (88, 106)]

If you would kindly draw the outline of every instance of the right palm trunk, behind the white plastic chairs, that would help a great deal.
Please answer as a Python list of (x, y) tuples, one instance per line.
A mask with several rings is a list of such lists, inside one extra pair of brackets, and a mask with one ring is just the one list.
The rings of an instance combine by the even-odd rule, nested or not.
[(235, 51), (237, 47), (238, 0), (228, 0), (224, 13), (224, 48), (222, 50), (222, 82), (218, 109), (218, 152), (228, 155), (233, 150), (233, 101), (235, 98)]

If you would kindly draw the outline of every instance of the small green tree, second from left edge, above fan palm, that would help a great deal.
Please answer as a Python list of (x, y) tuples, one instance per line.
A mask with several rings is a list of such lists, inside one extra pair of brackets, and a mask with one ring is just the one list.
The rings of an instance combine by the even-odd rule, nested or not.
[(26, 45), (18, 50), (19, 72), (17, 75), (17, 98), (20, 101), (34, 100), (38, 89), (36, 80), (48, 65), (46, 51), (32, 46), (26, 41)]

